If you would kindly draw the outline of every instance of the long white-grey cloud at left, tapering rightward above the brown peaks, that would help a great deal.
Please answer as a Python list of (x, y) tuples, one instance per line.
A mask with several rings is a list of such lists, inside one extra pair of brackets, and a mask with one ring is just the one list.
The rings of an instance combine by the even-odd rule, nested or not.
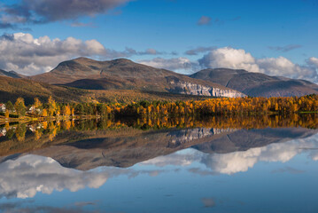
[(14, 70), (24, 75), (35, 75), (48, 72), (59, 62), (76, 57), (96, 59), (114, 59), (132, 55), (156, 55), (162, 52), (154, 49), (136, 51), (126, 48), (125, 51), (106, 49), (97, 40), (82, 41), (74, 37), (64, 40), (49, 36), (35, 38), (30, 34), (16, 33), (0, 36), (0, 67)]

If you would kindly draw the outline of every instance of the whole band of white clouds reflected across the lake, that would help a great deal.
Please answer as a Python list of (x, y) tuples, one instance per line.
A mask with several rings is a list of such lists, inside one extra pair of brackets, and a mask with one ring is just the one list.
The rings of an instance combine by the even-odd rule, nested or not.
[[(137, 170), (113, 167), (87, 171), (72, 170), (50, 157), (34, 154), (13, 155), (2, 159), (0, 163), (0, 194), (7, 198), (31, 198), (39, 192), (50, 194), (53, 191), (60, 192), (65, 189), (77, 192), (85, 187), (99, 188), (107, 179), (120, 175), (137, 177), (146, 174), (155, 177), (159, 173), (166, 172), (168, 165), (183, 168), (199, 176), (232, 175), (251, 169), (257, 162), (288, 162), (302, 153), (309, 159), (317, 161), (317, 147), (318, 135), (228, 154), (203, 153), (190, 148), (141, 162)], [(144, 166), (152, 167), (149, 169), (150, 167)], [(273, 172), (299, 173), (303, 171), (286, 167)]]

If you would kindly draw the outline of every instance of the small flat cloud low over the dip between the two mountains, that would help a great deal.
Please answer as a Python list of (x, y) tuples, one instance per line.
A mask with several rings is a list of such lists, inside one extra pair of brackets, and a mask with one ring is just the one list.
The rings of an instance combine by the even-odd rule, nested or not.
[(149, 60), (139, 60), (138, 62), (151, 67), (164, 68), (174, 71), (192, 71), (195, 67), (198, 66), (196, 62), (191, 62), (190, 59), (187, 59), (185, 57), (173, 59), (155, 58)]

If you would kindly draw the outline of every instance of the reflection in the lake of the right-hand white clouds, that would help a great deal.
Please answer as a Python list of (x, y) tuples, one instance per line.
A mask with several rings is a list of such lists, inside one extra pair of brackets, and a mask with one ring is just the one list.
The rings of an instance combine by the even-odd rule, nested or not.
[(199, 175), (227, 174), (247, 171), (257, 162), (288, 162), (297, 154), (306, 153), (312, 161), (318, 160), (318, 135), (310, 138), (292, 140), (285, 143), (275, 143), (268, 146), (251, 148), (246, 151), (237, 151), (227, 154), (202, 153), (196, 149), (187, 153), (175, 153), (159, 156), (142, 164), (151, 164), (158, 167), (167, 165), (185, 166), (193, 162), (200, 162), (208, 170), (191, 169), (190, 172)]

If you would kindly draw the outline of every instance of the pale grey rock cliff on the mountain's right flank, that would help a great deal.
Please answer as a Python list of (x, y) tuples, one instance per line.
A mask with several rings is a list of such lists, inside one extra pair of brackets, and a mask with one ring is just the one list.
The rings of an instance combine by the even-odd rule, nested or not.
[(170, 79), (169, 83), (172, 86), (170, 91), (180, 94), (229, 98), (245, 97), (239, 91), (214, 88), (202, 84), (178, 81), (177, 79)]

